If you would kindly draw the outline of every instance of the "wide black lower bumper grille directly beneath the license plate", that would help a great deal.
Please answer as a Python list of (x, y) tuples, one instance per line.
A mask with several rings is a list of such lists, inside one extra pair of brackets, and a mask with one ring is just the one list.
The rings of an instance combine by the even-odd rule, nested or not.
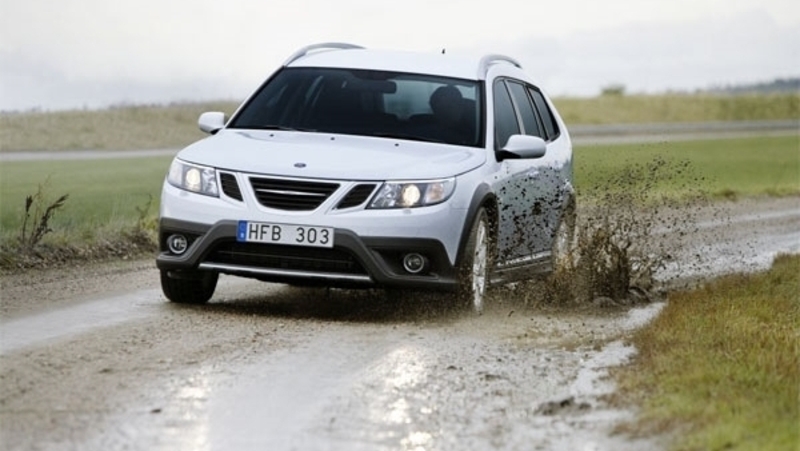
[(366, 275), (364, 267), (349, 252), (340, 249), (294, 247), (261, 243), (221, 243), (206, 258), (254, 268)]

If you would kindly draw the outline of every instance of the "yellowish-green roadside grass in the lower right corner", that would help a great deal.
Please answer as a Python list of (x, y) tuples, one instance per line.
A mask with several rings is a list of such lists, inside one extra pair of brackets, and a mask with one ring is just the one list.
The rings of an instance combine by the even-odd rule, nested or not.
[(672, 434), (674, 450), (783, 451), (800, 444), (800, 256), (673, 294), (636, 332), (616, 373), (642, 406), (629, 432)]

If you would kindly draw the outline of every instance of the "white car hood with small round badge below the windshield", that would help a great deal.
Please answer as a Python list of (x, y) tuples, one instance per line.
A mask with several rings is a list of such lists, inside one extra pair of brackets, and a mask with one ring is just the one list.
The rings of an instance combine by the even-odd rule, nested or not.
[(183, 149), (191, 163), (237, 172), (340, 180), (451, 177), (486, 160), (482, 149), (389, 138), (220, 130)]

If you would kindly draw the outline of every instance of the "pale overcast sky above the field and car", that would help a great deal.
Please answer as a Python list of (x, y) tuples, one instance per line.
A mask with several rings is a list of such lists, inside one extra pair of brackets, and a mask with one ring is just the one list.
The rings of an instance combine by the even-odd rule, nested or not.
[(505, 53), (552, 95), (800, 76), (797, 0), (0, 0), (0, 110), (242, 100), (297, 48)]

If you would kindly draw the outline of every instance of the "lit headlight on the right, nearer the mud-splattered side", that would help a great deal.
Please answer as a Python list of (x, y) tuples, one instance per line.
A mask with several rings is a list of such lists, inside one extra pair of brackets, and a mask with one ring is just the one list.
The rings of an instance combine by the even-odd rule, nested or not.
[(424, 182), (386, 182), (369, 208), (414, 208), (446, 201), (456, 188), (456, 179)]

